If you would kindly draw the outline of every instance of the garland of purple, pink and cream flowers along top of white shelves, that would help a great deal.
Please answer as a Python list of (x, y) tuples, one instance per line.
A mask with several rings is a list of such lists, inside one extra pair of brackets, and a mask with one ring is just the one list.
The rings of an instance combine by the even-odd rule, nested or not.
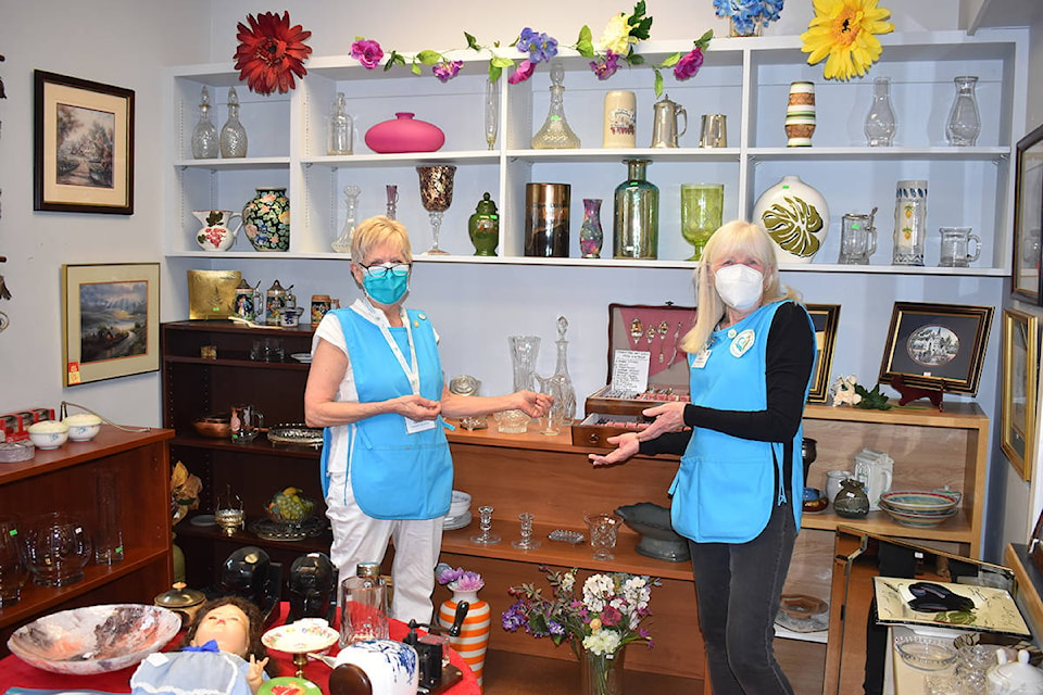
[[(781, 5), (781, 0), (778, 0), (778, 3)], [(644, 58), (634, 53), (633, 49), (639, 42), (649, 39), (651, 28), (652, 17), (645, 14), (644, 0), (639, 0), (633, 7), (632, 13), (620, 12), (608, 20), (596, 47), (590, 27), (583, 25), (579, 30), (576, 43), (565, 48), (574, 49), (583, 58), (592, 59), (590, 70), (598, 76), (598, 79), (608, 79), (619, 68), (620, 62), (626, 62), (628, 65), (644, 63)], [(678, 80), (691, 79), (702, 67), (703, 51), (709, 46), (713, 36), (714, 33), (711, 29), (693, 41), (692, 50), (684, 55), (677, 52), (652, 66), (655, 74), (656, 97), (663, 93), (661, 70), (673, 68), (674, 77)], [(489, 59), (490, 81), (495, 83), (500, 79), (504, 70), (510, 70), (507, 83), (512, 85), (524, 83), (531, 77), (539, 63), (550, 61), (557, 55), (560, 46), (554, 37), (537, 31), (531, 27), (525, 27), (511, 43), (512, 47), (525, 55), (522, 59), (497, 54), (495, 49), (500, 48), (500, 41), (495, 41), (488, 47), (481, 46), (474, 36), (466, 31), (464, 33), (464, 39), (467, 42), (467, 49), (474, 51), (488, 50), (492, 53), (492, 58)], [(351, 45), (351, 56), (362, 63), (363, 67), (375, 70), (384, 61), (385, 52), (379, 42), (356, 37), (354, 43)], [(388, 71), (397, 65), (404, 66), (406, 64), (411, 66), (415, 75), (422, 74), (424, 66), (429, 66), (435, 77), (443, 83), (455, 77), (463, 67), (463, 61), (450, 60), (442, 51), (423, 50), (407, 56), (392, 50), (387, 54), (384, 70)]]

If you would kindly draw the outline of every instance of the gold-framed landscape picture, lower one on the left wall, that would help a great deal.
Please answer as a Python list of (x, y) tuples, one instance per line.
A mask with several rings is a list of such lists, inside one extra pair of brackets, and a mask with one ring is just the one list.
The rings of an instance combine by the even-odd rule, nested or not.
[(66, 387), (160, 368), (160, 264), (62, 266)]

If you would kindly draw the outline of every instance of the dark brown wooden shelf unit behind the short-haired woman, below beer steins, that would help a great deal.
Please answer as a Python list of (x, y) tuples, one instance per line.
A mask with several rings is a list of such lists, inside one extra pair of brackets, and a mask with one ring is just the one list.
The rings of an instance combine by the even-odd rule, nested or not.
[[(282, 343), (281, 362), (250, 358), (255, 340)], [(272, 496), (293, 485), (316, 503), (323, 518), (326, 507), (319, 488), (318, 452), (300, 446), (274, 446), (262, 434), (247, 444), (229, 439), (200, 437), (192, 422), (209, 414), (227, 414), (233, 405), (250, 404), (267, 426), (304, 421), (304, 386), (307, 365), (293, 353), (311, 352), (312, 331), (303, 328), (242, 328), (225, 321), (177, 321), (161, 329), (163, 352), (163, 422), (176, 434), (171, 441), (173, 460), (180, 460), (203, 481), (200, 513), (213, 514), (217, 496), (231, 492), (242, 500), (247, 525), (264, 518)], [(200, 356), (213, 345), (216, 359)], [(256, 545), (272, 559), (289, 563), (311, 551), (329, 553), (328, 531), (294, 542), (264, 540), (248, 529), (227, 536), (213, 526), (183, 520), (175, 527), (177, 545), (185, 552), (191, 586), (214, 582), (215, 570), (236, 548)]]

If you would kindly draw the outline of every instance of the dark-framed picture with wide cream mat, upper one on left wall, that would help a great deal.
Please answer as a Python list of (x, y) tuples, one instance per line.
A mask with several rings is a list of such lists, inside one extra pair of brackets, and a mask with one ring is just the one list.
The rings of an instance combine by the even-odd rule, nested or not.
[(36, 71), (33, 210), (134, 214), (134, 91)]

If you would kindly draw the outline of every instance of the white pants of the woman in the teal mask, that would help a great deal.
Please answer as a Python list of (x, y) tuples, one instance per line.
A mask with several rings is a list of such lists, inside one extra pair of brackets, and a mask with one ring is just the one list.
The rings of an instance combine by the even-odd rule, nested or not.
[(389, 520), (366, 516), (355, 503), (344, 472), (330, 475), (326, 507), (334, 528), (330, 559), (340, 570), (340, 580), (353, 577), (359, 563), (382, 561), (388, 540), (393, 539), (391, 617), (403, 622), (430, 622), (435, 565), (442, 545), (444, 517)]

